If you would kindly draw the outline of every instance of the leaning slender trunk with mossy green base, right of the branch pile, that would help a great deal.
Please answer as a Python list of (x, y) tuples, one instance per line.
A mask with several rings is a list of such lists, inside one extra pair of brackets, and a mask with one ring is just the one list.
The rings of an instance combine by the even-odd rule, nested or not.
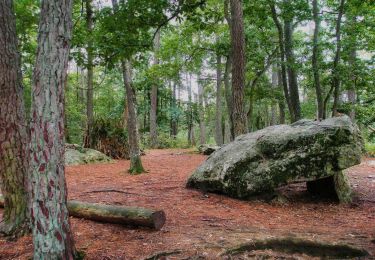
[(124, 85), (126, 91), (126, 105), (129, 113), (128, 116), (128, 139), (129, 139), (129, 155), (130, 169), (132, 174), (143, 173), (145, 170), (141, 161), (141, 150), (139, 149), (139, 134), (137, 126), (136, 96), (132, 83), (132, 65), (129, 60), (121, 63)]

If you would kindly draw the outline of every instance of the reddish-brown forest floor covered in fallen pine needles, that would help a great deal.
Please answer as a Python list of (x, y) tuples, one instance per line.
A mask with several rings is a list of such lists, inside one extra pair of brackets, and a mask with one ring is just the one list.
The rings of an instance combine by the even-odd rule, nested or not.
[[(76, 247), (87, 259), (221, 259), (226, 249), (256, 239), (301, 238), (364, 248), (375, 259), (375, 159), (349, 170), (358, 199), (353, 205), (311, 198), (304, 184), (288, 186), (287, 204), (240, 201), (185, 188), (205, 156), (191, 150), (152, 150), (143, 157), (148, 173), (127, 174), (129, 161), (67, 167), (69, 199), (163, 209), (160, 231), (71, 218)], [(0, 210), (1, 217), (2, 210)], [(30, 259), (30, 236), (0, 238), (0, 259)], [(270, 250), (233, 259), (310, 259)], [(284, 257), (284, 258), (283, 258)], [(152, 259), (152, 258), (151, 258)], [(166, 258), (153, 258), (166, 259)], [(227, 258), (232, 259), (232, 258)]]

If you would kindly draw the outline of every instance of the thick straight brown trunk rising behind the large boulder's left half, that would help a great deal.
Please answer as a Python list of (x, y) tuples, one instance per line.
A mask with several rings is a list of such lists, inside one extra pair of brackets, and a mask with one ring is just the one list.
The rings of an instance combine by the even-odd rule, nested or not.
[(245, 32), (241, 0), (230, 0), (232, 64), (233, 130), (235, 137), (247, 133), (245, 96)]

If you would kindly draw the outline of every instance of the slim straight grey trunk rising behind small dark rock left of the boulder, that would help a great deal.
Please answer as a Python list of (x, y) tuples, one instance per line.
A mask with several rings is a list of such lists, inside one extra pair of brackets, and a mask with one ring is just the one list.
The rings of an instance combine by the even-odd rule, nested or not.
[(216, 54), (216, 119), (215, 119), (215, 141), (216, 144), (221, 146), (224, 143), (223, 138), (223, 115), (222, 115), (222, 102), (221, 102), (221, 80), (222, 64), (220, 54)]

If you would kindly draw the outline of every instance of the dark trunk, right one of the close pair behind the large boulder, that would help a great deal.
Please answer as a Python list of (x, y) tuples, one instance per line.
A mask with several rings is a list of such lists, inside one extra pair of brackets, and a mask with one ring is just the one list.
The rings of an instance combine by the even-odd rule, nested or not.
[[(289, 4), (290, 0), (284, 0)], [(301, 119), (301, 104), (299, 100), (296, 62), (293, 51), (293, 19), (286, 17), (284, 19), (284, 40), (285, 40), (285, 56), (287, 60), (287, 72), (289, 80), (290, 103), (293, 109), (294, 118), (292, 122)]]

